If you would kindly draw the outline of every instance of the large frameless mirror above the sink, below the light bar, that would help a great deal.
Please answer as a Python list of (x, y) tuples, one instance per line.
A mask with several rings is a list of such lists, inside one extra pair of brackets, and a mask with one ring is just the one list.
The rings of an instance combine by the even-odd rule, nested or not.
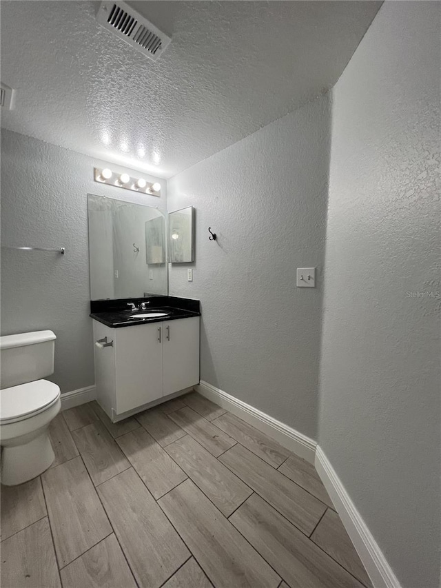
[(168, 293), (165, 214), (88, 194), (90, 298)]

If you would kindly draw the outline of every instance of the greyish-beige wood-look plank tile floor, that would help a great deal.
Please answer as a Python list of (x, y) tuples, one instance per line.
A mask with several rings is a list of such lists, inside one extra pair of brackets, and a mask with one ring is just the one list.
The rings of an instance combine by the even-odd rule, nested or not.
[(50, 425), (52, 467), (1, 487), (2, 588), (371, 588), (314, 466), (195, 392)]

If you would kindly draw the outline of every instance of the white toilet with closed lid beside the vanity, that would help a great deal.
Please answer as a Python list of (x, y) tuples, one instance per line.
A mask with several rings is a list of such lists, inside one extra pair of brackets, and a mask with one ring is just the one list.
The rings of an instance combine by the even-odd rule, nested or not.
[(48, 425), (61, 408), (54, 373), (55, 336), (37, 331), (0, 337), (1, 483), (14, 486), (39, 476), (54, 461)]

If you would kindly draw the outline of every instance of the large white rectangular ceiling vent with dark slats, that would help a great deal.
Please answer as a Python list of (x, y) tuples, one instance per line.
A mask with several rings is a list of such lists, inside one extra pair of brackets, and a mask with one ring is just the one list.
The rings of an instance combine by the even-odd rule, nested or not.
[(125, 2), (101, 2), (96, 20), (153, 61), (172, 40)]

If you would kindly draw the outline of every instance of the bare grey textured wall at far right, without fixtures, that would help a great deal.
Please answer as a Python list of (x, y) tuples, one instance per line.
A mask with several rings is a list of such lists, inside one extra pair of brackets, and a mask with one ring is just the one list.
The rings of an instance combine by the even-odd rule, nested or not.
[(319, 443), (406, 588), (440, 569), (440, 3), (385, 3), (333, 92)]

